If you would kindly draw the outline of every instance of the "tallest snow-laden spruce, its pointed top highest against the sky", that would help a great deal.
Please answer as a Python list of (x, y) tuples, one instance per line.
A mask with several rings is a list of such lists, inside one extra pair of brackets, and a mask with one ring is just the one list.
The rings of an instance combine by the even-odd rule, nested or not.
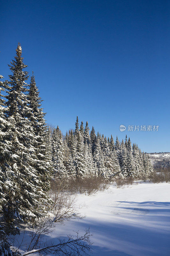
[(11, 137), (12, 156), (9, 160), (13, 172), (13, 190), (8, 191), (4, 207), (6, 221), (13, 218), (27, 220), (41, 216), (44, 210), (41, 180), (33, 167), (32, 157), (34, 132), (29, 117), (32, 109), (28, 106), (26, 92), (28, 72), (23, 63), (22, 49), (18, 44), (16, 56), (9, 65), (12, 72), (9, 75), (9, 88), (6, 115), (11, 128), (8, 132)]

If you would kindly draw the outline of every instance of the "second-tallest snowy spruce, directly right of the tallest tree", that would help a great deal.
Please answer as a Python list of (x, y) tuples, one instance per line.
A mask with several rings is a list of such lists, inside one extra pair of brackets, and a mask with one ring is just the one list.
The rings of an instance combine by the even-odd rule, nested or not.
[[(51, 162), (50, 158), (48, 158), (50, 145), (47, 145), (46, 139), (47, 136), (48, 140), (50, 139), (50, 130), (49, 132), (47, 131), (44, 119), (45, 113), (43, 113), (43, 109), (41, 108), (42, 99), (39, 96), (34, 74), (31, 76), (27, 98), (28, 106), (31, 109), (29, 120), (31, 122), (34, 135), (33, 140), (31, 141), (31, 156), (34, 157), (33, 168), (36, 169), (40, 177), (41, 187), (44, 191), (47, 191), (50, 188), (49, 179), (51, 175)], [(44, 194), (44, 198), (48, 201), (46, 194)]]

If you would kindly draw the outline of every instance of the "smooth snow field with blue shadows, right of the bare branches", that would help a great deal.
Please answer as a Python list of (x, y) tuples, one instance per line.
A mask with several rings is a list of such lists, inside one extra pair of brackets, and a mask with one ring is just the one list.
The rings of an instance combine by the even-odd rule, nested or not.
[(86, 217), (56, 223), (47, 242), (90, 227), (93, 256), (170, 255), (170, 184), (111, 186), (92, 196), (78, 195), (76, 204)]

